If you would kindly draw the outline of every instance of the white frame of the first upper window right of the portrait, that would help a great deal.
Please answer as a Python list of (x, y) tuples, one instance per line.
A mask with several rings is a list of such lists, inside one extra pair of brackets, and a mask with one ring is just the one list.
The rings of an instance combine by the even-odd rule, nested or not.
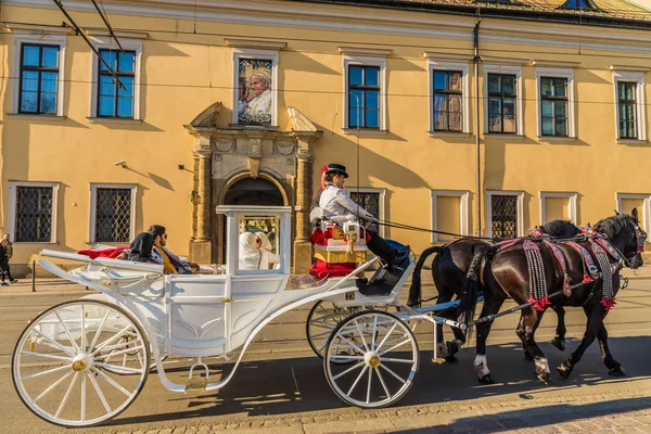
[(374, 66), (378, 67), (378, 127), (366, 128), (360, 127), (360, 131), (386, 131), (386, 58), (372, 58), (366, 55), (354, 55), (344, 54), (344, 116), (343, 116), (343, 130), (344, 131), (357, 131), (357, 127), (350, 127), (349, 123), (349, 67), (350, 66)]

